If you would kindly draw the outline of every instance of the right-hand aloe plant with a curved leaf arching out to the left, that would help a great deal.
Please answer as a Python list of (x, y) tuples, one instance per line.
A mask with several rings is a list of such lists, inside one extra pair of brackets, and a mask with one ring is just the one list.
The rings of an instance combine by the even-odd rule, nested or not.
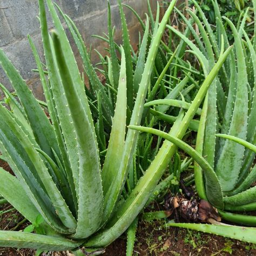
[[(196, 42), (202, 40), (203, 44), (196, 45), (178, 30), (169, 28), (187, 43), (192, 49), (190, 52), (196, 54), (205, 75), (220, 54), (221, 38), (224, 38), (225, 45), (229, 45), (222, 21), (230, 26), (234, 35), (234, 48), (220, 70), (221, 75), (215, 78), (204, 101), (197, 133), (196, 150), (172, 134), (149, 127), (130, 127), (157, 134), (184, 150), (196, 161), (194, 177), (199, 197), (210, 201), (217, 207), (223, 219), (240, 225), (255, 226), (255, 217), (233, 213), (255, 210), (254, 191), (256, 187), (253, 186), (256, 180), (254, 164), (256, 143), (255, 45), (244, 31), (244, 22), (241, 21), (236, 28), (228, 18), (221, 19), (217, 1), (212, 1), (215, 15), (218, 17), (216, 32), (211, 29), (211, 25), (207, 22), (204, 12), (197, 2), (192, 2), (205, 26), (201, 25), (198, 16), (188, 10), (193, 21), (198, 25), (201, 38), (194, 33), (192, 26), (190, 29), (192, 34), (197, 37)], [(255, 1), (253, 4), (256, 8)], [(185, 19), (184, 16), (183, 18)], [(185, 22), (188, 23), (186, 20)], [(171, 103), (173, 104), (173, 102)], [(154, 105), (156, 102), (149, 104)], [(182, 107), (186, 108), (184, 102), (183, 105)], [(252, 227), (173, 223), (168, 226), (188, 227), (256, 242), (255, 239), (251, 239), (251, 232), (255, 232), (255, 228)]]

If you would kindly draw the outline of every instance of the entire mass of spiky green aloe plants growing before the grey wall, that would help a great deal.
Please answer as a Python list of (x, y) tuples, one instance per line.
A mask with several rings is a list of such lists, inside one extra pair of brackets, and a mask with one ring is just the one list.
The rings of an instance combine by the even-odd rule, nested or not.
[[(219, 210), (225, 207), (234, 209), (238, 205), (237, 198), (232, 198), (233, 195), (230, 194), (233, 189), (229, 187), (231, 184), (225, 187), (225, 178), (220, 178), (219, 173), (214, 170), (217, 163), (221, 163), (221, 157), (227, 158), (227, 147), (235, 152), (237, 163), (246, 164), (243, 177), (251, 171), (254, 157), (251, 151), (245, 149), (244, 158), (238, 154), (240, 144), (255, 151), (255, 146), (251, 144), (255, 144), (254, 88), (252, 86), (251, 95), (249, 93), (248, 96), (250, 86), (243, 82), (246, 77), (248, 81), (254, 82), (251, 71), (256, 70), (256, 56), (250, 39), (242, 30), (244, 23), (241, 23), (241, 28), (237, 31), (227, 21), (235, 35), (233, 52), (222, 23), (218, 23), (220, 33), (215, 36), (198, 5), (206, 28), (200, 25), (193, 12), (190, 14), (198, 25), (203, 43), (193, 30), (193, 21), (186, 21), (186, 36), (167, 25), (176, 0), (171, 1), (161, 22), (159, 5), (155, 20), (149, 5), (150, 18), (147, 18), (145, 24), (130, 8), (144, 30), (139, 51), (134, 53), (129, 42), (123, 6), (120, 1), (118, 3), (123, 45), (118, 46), (113, 40), (114, 29), (111, 26), (109, 5), (109, 33), (102, 39), (109, 43), (110, 57), (104, 58), (99, 54), (102, 68), (98, 70), (106, 78), (103, 85), (75, 24), (51, 0), (46, 0), (55, 25), (55, 30), (49, 34), (45, 3), (44, 0), (39, 0), (46, 70), (30, 37), (29, 42), (36, 59), (50, 119), (14, 65), (0, 50), (0, 64), (18, 97), (17, 100), (1, 85), (9, 97), (9, 109), (0, 105), (0, 151), (16, 177), (0, 170), (0, 177), (4, 180), (0, 184), (0, 194), (32, 224), (37, 225), (38, 219), (41, 220), (40, 233), (0, 231), (1, 246), (51, 251), (76, 251), (83, 247), (84, 251), (89, 252), (93, 248), (104, 248), (129, 228), (127, 255), (131, 255), (137, 216), (152, 200), (152, 193), (162, 187), (162, 184), (158, 185), (159, 180), (170, 165), (170, 159), (176, 154), (177, 146), (199, 164), (196, 166), (195, 180), (201, 198), (207, 199)], [(57, 9), (78, 47), (90, 89), (84, 86), (84, 79), (79, 73)], [(217, 5), (215, 9), (217, 12)], [(169, 31), (183, 40), (175, 51), (171, 50), (171, 41), (161, 41), (166, 25)], [(196, 37), (198, 46), (187, 38), (190, 32)], [(242, 33), (246, 44), (241, 40)], [(186, 44), (192, 49), (190, 53), (201, 63), (204, 78), (182, 59)], [(247, 70), (243, 65), (246, 49), (250, 52)], [(117, 58), (117, 51), (120, 52), (121, 60)], [(220, 76), (217, 76), (219, 71)], [(182, 73), (182, 79), (177, 78), (178, 73)], [(201, 86), (195, 80), (198, 77), (203, 81)], [(232, 83), (232, 79), (237, 79), (237, 82)], [(188, 84), (190, 85), (187, 86)], [(249, 84), (252, 85), (250, 82)], [(226, 99), (225, 96), (225, 104), (220, 104), (221, 100)], [(248, 138), (247, 123), (239, 123), (237, 114), (242, 111), (242, 118), (247, 119), (248, 106), (241, 105), (241, 102), (248, 99), (246, 97), (249, 98), (251, 107), (248, 126), (254, 125), (254, 130), (248, 129), (248, 133), (251, 132), (249, 142), (248, 139), (245, 142)], [(203, 101), (203, 108), (200, 109)], [(161, 105), (149, 108), (156, 104)], [(173, 106), (181, 109), (177, 111)], [(200, 122), (193, 119), (196, 114), (200, 116)], [(159, 119), (173, 124), (169, 134), (151, 128), (162, 124), (158, 122)], [(138, 127), (139, 125), (148, 127)], [(238, 126), (244, 137), (235, 133)], [(228, 133), (220, 136), (230, 140), (218, 140), (215, 137), (220, 127), (223, 129), (221, 133)], [(196, 151), (181, 141), (187, 129), (198, 131)], [(158, 140), (152, 153), (153, 137), (144, 136), (138, 130), (157, 134), (165, 140), (161, 146)], [(229, 161), (228, 168), (231, 169), (232, 164)], [(228, 175), (233, 174), (232, 170)], [(248, 176), (254, 177), (254, 172), (251, 171)], [(237, 171), (232, 176), (233, 186), (237, 185), (238, 177)], [(249, 193), (254, 193), (254, 190), (249, 190)], [(250, 197), (243, 194), (241, 198), (248, 200)], [(240, 204), (242, 209), (251, 209), (254, 202), (246, 201), (246, 205), (243, 204)], [(221, 214), (231, 220), (228, 213)], [(242, 217), (235, 215), (233, 219), (241, 222)], [(245, 221), (251, 224), (252, 218), (248, 217)], [(209, 227), (200, 228), (207, 230)], [(239, 231), (239, 227), (221, 230), (222, 226), (213, 225), (209, 230), (214, 232), (214, 228), (217, 230), (215, 233), (241, 239), (239, 233), (230, 235), (233, 230)], [(245, 228), (243, 231), (242, 239), (255, 242), (250, 240), (253, 229)]]

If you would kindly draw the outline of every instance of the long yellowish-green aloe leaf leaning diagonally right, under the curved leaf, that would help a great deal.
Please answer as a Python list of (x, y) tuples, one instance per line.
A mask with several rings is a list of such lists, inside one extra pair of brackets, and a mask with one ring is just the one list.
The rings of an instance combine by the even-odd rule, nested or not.
[[(171, 5), (174, 3), (174, 1), (171, 2)], [(221, 65), (223, 65), (225, 62), (225, 59), (227, 58), (231, 49), (232, 47), (228, 48), (224, 53), (221, 51), (218, 62), (214, 65), (214, 68), (207, 76), (205, 82), (201, 85), (197, 96), (193, 100), (193, 105), (187, 111), (185, 117), (183, 116), (183, 111), (180, 112), (179, 117), (170, 131), (171, 135), (180, 139), (184, 136), (188, 124), (203, 101), (208, 87), (217, 75)], [(133, 124), (131, 123), (131, 125)], [(176, 152), (176, 146), (169, 141), (165, 141), (157, 156), (152, 161), (144, 176), (140, 178), (137, 186), (133, 189), (130, 196), (118, 208), (118, 211), (114, 213), (113, 217), (107, 224), (108, 228), (102, 230), (95, 235), (95, 237), (87, 241), (87, 246), (100, 247), (108, 245), (131, 225), (132, 221), (137, 217), (147, 200), (150, 198), (154, 188), (156, 188), (161, 176), (166, 170), (167, 165), (169, 165), (170, 158), (173, 156), (174, 152)]]

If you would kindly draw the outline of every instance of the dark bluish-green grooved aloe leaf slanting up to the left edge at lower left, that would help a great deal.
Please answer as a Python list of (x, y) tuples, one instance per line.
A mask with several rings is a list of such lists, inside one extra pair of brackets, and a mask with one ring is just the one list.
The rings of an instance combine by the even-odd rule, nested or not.
[[(0, 111), (1, 110), (4, 110), (4, 107), (0, 106)], [(2, 113), (1, 111), (1, 115), (4, 117), (4, 112)], [(6, 118), (8, 117), (5, 117), (5, 119)], [(8, 164), (12, 171), (14, 171), (19, 183), (26, 191), (32, 204), (35, 205), (45, 221), (56, 231), (67, 233), (66, 228), (60, 223), (59, 218), (55, 213), (55, 208), (53, 207), (48, 194), (46, 194), (45, 189), (43, 190), (42, 181), (39, 179), (38, 173), (28, 157), (28, 154), (21, 146), (21, 143), (9, 128), (9, 125), (5, 122), (1, 122), (0, 130), (1, 153), (6, 160), (8, 160)]]

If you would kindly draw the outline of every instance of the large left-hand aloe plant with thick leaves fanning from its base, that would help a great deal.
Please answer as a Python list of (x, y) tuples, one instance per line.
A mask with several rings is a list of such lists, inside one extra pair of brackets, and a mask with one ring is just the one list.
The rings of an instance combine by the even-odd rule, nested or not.
[[(101, 165), (97, 125), (93, 123), (83, 80), (55, 6), (51, 0), (46, 0), (46, 3), (55, 24), (55, 31), (49, 35), (44, 1), (39, 0), (47, 76), (30, 37), (29, 42), (37, 62), (50, 120), (14, 65), (0, 51), (0, 64), (19, 99), (18, 102), (10, 96), (11, 111), (0, 106), (3, 119), (0, 150), (16, 175), (13, 177), (1, 169), (4, 182), (0, 193), (31, 223), (42, 215), (44, 234), (0, 231), (0, 244), (56, 251), (75, 250), (78, 246), (105, 247), (132, 224), (158, 184), (160, 174), (151, 178), (153, 184), (149, 187), (140, 189), (139, 185), (135, 186), (133, 191), (142, 194), (131, 192), (122, 203), (120, 196), (136, 152), (138, 137), (137, 131), (128, 130), (126, 133), (129, 104), (126, 104), (125, 49), (120, 47), (122, 63), (116, 87), (116, 106), (104, 164)], [(137, 97), (130, 110), (132, 125), (140, 124), (142, 119), (154, 58), (175, 3), (175, 0), (170, 3), (162, 21), (155, 26)], [(67, 21), (73, 35), (79, 39), (75, 26), (69, 19)], [(92, 72), (84, 45), (80, 45), (79, 50), (84, 53), (87, 72)], [(99, 99), (104, 101), (102, 116), (112, 116), (112, 105), (103, 85), (98, 83), (93, 72), (91, 78)], [(103, 120), (99, 120), (98, 124), (101, 122)], [(160, 173), (163, 173), (165, 165), (161, 166), (161, 161), (160, 157), (154, 165), (158, 165)], [(8, 192), (14, 187), (19, 193)], [(133, 198), (134, 194), (136, 198)], [(133, 204), (128, 204), (129, 201)]]

